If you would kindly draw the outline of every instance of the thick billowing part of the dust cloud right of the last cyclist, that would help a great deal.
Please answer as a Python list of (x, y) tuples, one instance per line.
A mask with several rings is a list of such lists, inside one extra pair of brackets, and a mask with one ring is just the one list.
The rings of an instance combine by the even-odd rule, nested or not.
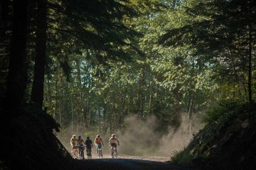
[(166, 135), (156, 132), (158, 120), (155, 116), (142, 120), (137, 115), (131, 115), (125, 119), (125, 123), (126, 130), (117, 134), (120, 141), (119, 152), (144, 157), (171, 157), (174, 151), (186, 147), (193, 133), (202, 128), (199, 121), (191, 126), (186, 115), (183, 116), (180, 128), (174, 132), (170, 127)]

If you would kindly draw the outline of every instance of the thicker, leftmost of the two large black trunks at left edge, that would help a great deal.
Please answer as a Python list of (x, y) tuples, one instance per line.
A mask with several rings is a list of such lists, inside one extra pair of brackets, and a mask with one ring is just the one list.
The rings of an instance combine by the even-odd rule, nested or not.
[(26, 55), (28, 0), (14, 0), (13, 10), (9, 73), (4, 101), (4, 115), (1, 116), (3, 121), (11, 121), (19, 114), (28, 79)]

